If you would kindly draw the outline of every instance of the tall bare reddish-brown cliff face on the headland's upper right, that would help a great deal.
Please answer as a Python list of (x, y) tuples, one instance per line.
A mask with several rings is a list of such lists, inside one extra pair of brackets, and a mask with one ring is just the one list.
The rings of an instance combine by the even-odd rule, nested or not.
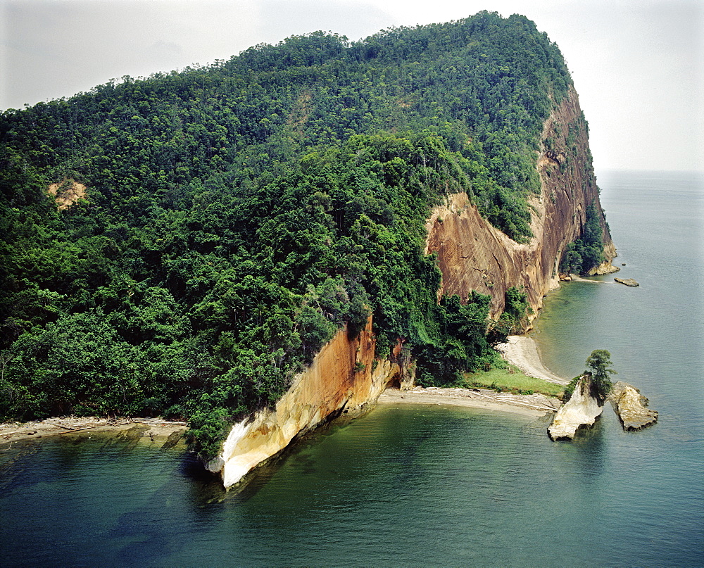
[(608, 259), (592, 273), (610, 272), (616, 251), (606, 225), (589, 151), (588, 127), (576, 91), (553, 110), (543, 127), (536, 163), (541, 194), (529, 198), (534, 237), (527, 244), (511, 240), (479, 215), (466, 193), (449, 196), (427, 222), (427, 253), (436, 253), (442, 272), (439, 294), (470, 291), (489, 294), (491, 315), (501, 315), (505, 291), (523, 288), (535, 313), (543, 296), (558, 286), (558, 265), (565, 247), (579, 238), (586, 208), (594, 203)]

